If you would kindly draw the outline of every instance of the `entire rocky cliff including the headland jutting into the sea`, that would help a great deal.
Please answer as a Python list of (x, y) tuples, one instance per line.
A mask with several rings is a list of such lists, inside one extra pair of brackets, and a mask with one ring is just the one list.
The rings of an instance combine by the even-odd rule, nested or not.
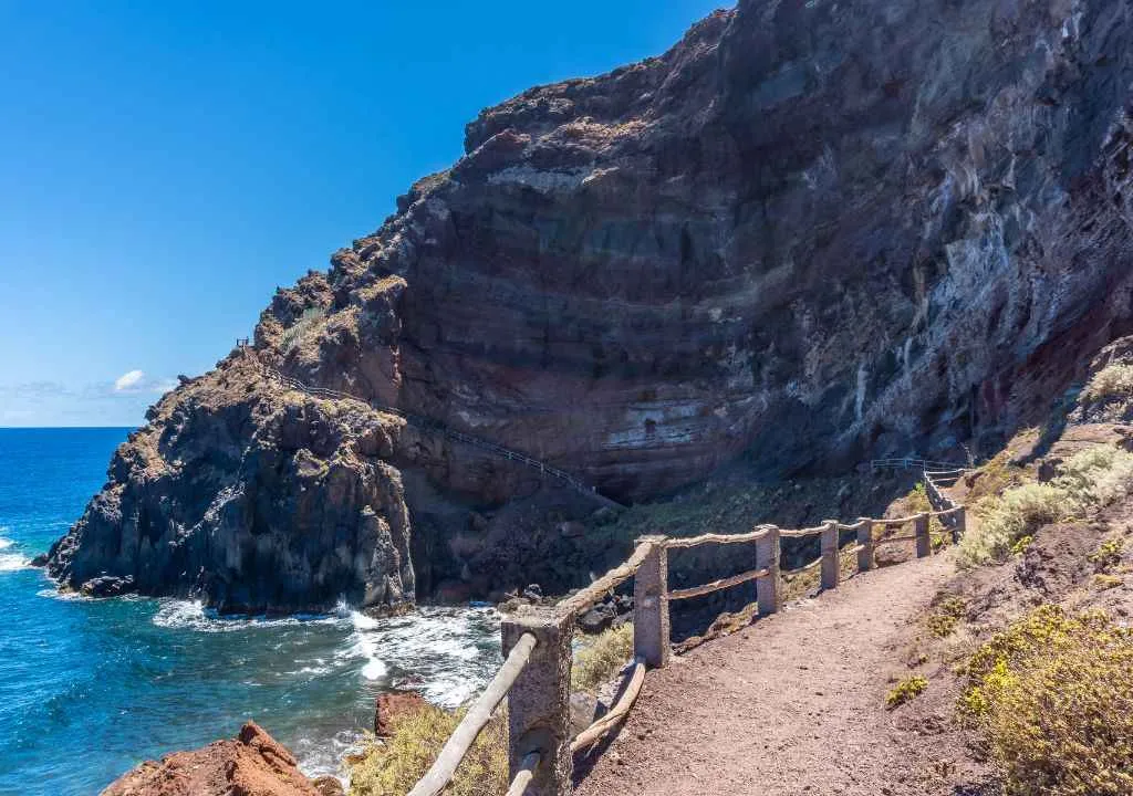
[(530, 470), (258, 365), (622, 499), (997, 438), (1130, 327), (1131, 45), (1122, 0), (744, 0), (488, 109), (162, 400), (50, 567), (249, 607), (483, 574), (467, 507)]

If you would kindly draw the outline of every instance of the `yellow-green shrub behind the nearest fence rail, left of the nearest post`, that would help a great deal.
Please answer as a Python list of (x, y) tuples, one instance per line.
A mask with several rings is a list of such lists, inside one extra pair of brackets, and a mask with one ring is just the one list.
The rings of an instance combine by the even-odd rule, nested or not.
[[(393, 720), (393, 735), (374, 741), (350, 763), (350, 796), (404, 796), (436, 760), (463, 711), (425, 707)], [(457, 769), (445, 796), (500, 796), (508, 789), (508, 719), (497, 710)]]

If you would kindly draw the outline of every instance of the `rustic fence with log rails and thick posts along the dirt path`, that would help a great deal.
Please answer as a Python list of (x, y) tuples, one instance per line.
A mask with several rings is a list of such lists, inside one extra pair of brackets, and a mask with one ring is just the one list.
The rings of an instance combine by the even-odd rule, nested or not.
[[(940, 488), (954, 483), (962, 471), (926, 471), (925, 487), (934, 511), (897, 519), (861, 517), (851, 524), (827, 520), (821, 525), (786, 530), (759, 525), (748, 533), (705, 533), (691, 538), (641, 537), (632, 555), (586, 589), (555, 606), (527, 606), (503, 620), (506, 656), (499, 674), (445, 743), (428, 772), (409, 796), (436, 796), (452, 779), (476, 736), (488, 722), (504, 696), (508, 697), (508, 734), (511, 786), (506, 796), (566, 796), (576, 752), (588, 748), (617, 727), (640, 693), (647, 667), (664, 667), (670, 654), (668, 605), (721, 589), (756, 582), (759, 615), (782, 607), (785, 575), (820, 567), (824, 590), (836, 589), (842, 577), (841, 558), (846, 549), (857, 553), (857, 571), (874, 568), (880, 545), (915, 541), (917, 556), (932, 553), (930, 521), (936, 517), (951, 530), (953, 540), (963, 533), (964, 507), (945, 496)], [(878, 538), (878, 530), (911, 525), (909, 534)], [(854, 532), (857, 541), (840, 545), (843, 532)], [(781, 572), (783, 539), (820, 538), (821, 555), (806, 566)], [(702, 585), (668, 589), (668, 553), (704, 545), (755, 546), (752, 568)], [(738, 555), (743, 555), (738, 553)], [(629, 684), (611, 711), (571, 738), (570, 681), (571, 639), (574, 620), (582, 611), (605, 599), (611, 590), (633, 577), (633, 668)]]

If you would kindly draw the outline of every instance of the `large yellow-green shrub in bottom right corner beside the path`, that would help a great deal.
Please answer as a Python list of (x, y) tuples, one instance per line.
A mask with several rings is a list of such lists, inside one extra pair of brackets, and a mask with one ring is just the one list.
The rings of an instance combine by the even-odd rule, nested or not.
[(963, 716), (1007, 794), (1133, 793), (1133, 632), (1100, 611), (1043, 606), (968, 662)]

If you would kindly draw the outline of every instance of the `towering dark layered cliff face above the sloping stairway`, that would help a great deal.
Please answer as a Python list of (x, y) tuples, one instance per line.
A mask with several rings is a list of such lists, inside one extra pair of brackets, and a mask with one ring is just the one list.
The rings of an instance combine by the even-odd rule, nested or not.
[(295, 365), (628, 498), (1010, 425), (1022, 365), (1128, 315), (1130, 24), (743, 2), (484, 111), (335, 255), (366, 328)]

